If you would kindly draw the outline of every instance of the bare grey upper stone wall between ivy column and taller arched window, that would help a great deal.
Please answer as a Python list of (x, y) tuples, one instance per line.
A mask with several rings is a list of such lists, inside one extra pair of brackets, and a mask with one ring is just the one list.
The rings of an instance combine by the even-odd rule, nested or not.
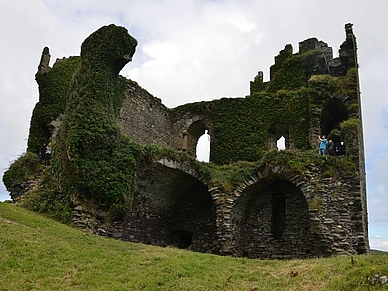
[(125, 98), (117, 117), (121, 132), (141, 144), (168, 146), (196, 156), (199, 137), (211, 131), (211, 120), (201, 114), (173, 114), (161, 100), (128, 80)]

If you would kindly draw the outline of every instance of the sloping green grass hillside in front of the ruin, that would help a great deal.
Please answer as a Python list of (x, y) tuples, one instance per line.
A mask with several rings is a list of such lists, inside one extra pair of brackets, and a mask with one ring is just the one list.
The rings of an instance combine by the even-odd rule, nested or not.
[(104, 239), (0, 203), (0, 290), (387, 290), (388, 255), (267, 261)]

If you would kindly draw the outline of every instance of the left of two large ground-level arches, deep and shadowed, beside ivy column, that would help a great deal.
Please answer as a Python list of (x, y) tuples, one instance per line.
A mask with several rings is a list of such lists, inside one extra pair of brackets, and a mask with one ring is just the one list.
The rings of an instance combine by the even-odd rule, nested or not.
[(159, 160), (138, 174), (125, 235), (131, 241), (216, 253), (215, 216), (200, 172)]

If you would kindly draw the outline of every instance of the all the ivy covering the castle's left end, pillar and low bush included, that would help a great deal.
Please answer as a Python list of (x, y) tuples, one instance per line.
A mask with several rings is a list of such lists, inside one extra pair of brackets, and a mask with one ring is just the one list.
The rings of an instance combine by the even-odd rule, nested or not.
[[(50, 122), (64, 117), (52, 141), (51, 175), (46, 172), (37, 190), (30, 191), (26, 207), (68, 221), (70, 196), (77, 194), (77, 200), (89, 200), (90, 206), (109, 210), (112, 217), (129, 209), (141, 147), (120, 135), (115, 119), (127, 84), (118, 72), (136, 44), (125, 28), (105, 26), (84, 41), (81, 57), (38, 70), (40, 98), (31, 119), (28, 153), (6, 171), (8, 189), (12, 182), (41, 172), (36, 154), (52, 135)], [(48, 48), (43, 53), (48, 56)]]

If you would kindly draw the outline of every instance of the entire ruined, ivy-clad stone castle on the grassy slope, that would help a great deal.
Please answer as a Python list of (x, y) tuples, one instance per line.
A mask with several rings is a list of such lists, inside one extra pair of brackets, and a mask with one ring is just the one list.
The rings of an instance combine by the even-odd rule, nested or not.
[[(338, 58), (317, 38), (296, 54), (286, 45), (249, 96), (172, 109), (118, 75), (136, 47), (124, 28), (99, 29), (52, 68), (45, 48), (29, 150), (53, 138), (58, 201), (99, 235), (251, 258), (368, 253), (357, 46), (345, 32)], [(195, 161), (205, 130), (209, 164)], [(323, 134), (346, 152), (318, 156)]]

